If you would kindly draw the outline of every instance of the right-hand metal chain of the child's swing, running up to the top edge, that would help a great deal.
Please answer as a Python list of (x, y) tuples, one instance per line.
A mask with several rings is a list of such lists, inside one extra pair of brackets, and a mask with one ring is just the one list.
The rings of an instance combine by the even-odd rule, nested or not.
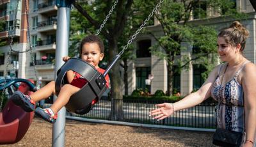
[(124, 51), (127, 50), (128, 46), (131, 45), (132, 41), (136, 38), (136, 36), (140, 33), (141, 29), (147, 24), (148, 20), (151, 19), (151, 17), (154, 15), (154, 13), (157, 11), (157, 9), (161, 6), (164, 0), (160, 0), (159, 3), (156, 4), (155, 8), (152, 10), (152, 12), (148, 15), (147, 19), (144, 20), (143, 24), (141, 24), (140, 28), (137, 29), (137, 31), (132, 35), (131, 39), (127, 42), (127, 44), (123, 47), (121, 52), (117, 56), (122, 56), (124, 54)]

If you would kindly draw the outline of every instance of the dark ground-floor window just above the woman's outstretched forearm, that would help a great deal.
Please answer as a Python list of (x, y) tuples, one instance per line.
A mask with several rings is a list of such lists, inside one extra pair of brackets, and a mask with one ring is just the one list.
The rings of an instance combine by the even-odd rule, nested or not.
[(206, 71), (202, 65), (193, 65), (193, 90), (199, 89), (204, 84), (202, 74)]

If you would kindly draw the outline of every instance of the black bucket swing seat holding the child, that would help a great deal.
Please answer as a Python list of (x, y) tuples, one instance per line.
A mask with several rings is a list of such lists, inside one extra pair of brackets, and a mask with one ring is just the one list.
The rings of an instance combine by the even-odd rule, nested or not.
[(92, 100), (97, 98), (99, 101), (104, 91), (106, 91), (106, 80), (104, 76), (89, 63), (81, 59), (70, 58), (57, 72), (58, 77), (55, 84), (56, 95), (60, 93), (61, 87), (67, 84), (65, 75), (68, 70), (77, 72), (88, 82), (83, 88), (70, 97), (65, 107), (68, 112), (85, 114), (90, 111)]

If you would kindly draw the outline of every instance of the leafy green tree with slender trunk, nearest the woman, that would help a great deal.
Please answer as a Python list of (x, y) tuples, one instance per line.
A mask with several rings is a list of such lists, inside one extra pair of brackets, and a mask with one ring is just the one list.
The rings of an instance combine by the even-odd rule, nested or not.
[[(163, 36), (156, 36), (153, 33), (148, 33), (154, 36), (157, 41), (157, 44), (151, 47), (151, 52), (167, 61), (167, 95), (172, 95), (173, 74), (179, 72), (182, 68), (188, 68), (191, 61), (201, 63), (205, 68), (209, 68), (211, 65), (209, 57), (211, 54), (216, 53), (216, 31), (213, 27), (196, 27), (189, 22), (191, 17), (194, 17), (194, 19), (206, 20), (207, 8), (212, 8), (219, 14), (225, 13), (225, 15), (230, 15), (230, 13), (234, 13), (235, 10), (232, 1), (172, 0), (164, 1), (161, 10), (155, 13), (155, 17), (161, 24)], [(191, 16), (191, 13), (193, 13), (193, 16)], [(196, 54), (193, 54), (193, 56), (180, 56), (180, 53), (186, 49), (183, 47), (182, 43), (187, 43), (193, 46)], [(159, 47), (163, 50), (159, 51)], [(175, 61), (178, 63), (178, 68), (173, 69)]]

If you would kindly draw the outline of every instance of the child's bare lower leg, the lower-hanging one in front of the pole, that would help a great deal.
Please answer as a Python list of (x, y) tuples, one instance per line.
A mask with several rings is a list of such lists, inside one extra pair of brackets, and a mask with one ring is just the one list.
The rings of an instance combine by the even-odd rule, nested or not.
[(60, 93), (58, 95), (58, 98), (56, 99), (56, 101), (51, 105), (51, 109), (52, 111), (55, 113), (57, 113), (58, 111), (60, 111), (60, 109), (62, 107), (64, 107), (67, 103), (69, 98), (76, 93), (77, 91), (79, 91), (80, 88), (77, 88), (76, 86), (72, 86), (70, 84), (65, 84), (61, 90)]

